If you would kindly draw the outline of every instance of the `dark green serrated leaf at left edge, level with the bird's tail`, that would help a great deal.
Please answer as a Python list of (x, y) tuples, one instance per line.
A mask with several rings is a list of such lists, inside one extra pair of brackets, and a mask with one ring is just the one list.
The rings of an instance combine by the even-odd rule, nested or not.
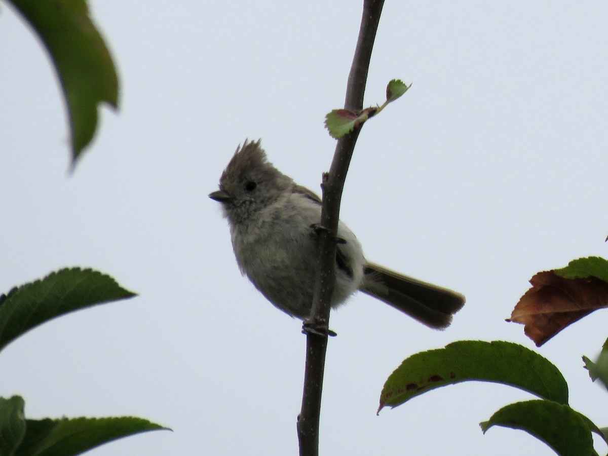
[(0, 296), (0, 350), (34, 326), (69, 312), (135, 296), (109, 275), (66, 268)]

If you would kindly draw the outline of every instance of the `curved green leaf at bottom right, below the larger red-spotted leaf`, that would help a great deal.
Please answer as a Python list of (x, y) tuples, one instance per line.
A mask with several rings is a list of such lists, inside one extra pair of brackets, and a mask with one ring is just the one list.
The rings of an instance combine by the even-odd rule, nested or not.
[(480, 426), (484, 433), (492, 426), (525, 430), (559, 455), (583, 456), (594, 451), (585, 421), (578, 412), (558, 402), (536, 399), (509, 404)]

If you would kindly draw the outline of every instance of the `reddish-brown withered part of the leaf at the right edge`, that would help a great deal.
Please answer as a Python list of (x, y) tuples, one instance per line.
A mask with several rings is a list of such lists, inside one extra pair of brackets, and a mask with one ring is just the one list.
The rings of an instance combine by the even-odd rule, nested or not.
[(595, 277), (564, 278), (543, 271), (530, 279), (508, 322), (525, 325), (523, 332), (537, 347), (566, 326), (596, 309), (608, 307), (608, 283)]

